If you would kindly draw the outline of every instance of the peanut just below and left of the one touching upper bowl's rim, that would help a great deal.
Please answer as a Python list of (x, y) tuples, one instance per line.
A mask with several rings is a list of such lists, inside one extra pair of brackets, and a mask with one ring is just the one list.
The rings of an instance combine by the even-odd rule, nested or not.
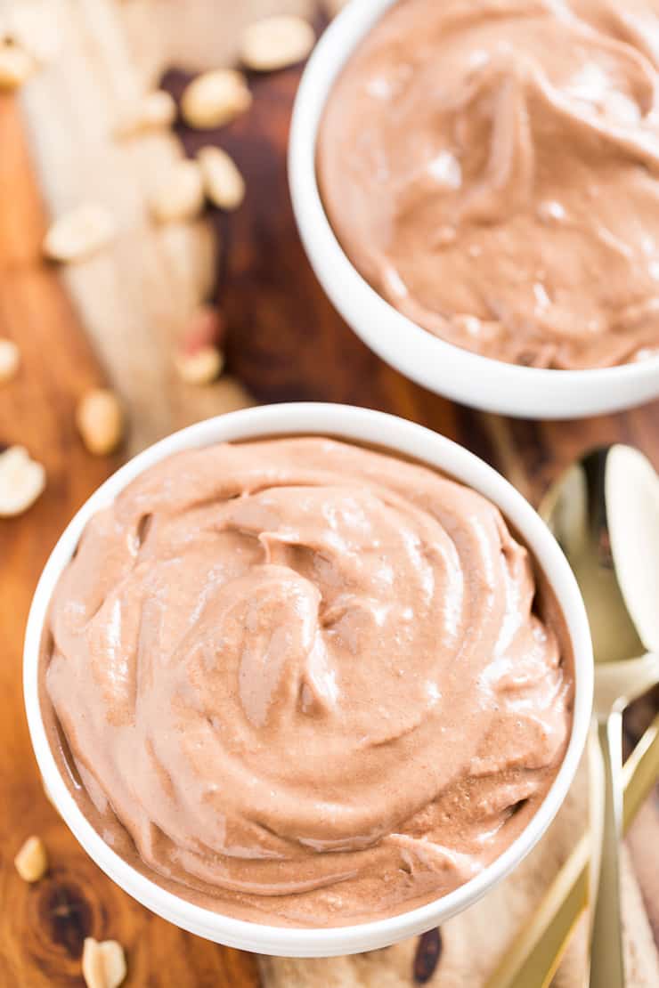
[(205, 129), (222, 126), (249, 109), (252, 94), (241, 72), (219, 68), (188, 83), (181, 98), (186, 124)]

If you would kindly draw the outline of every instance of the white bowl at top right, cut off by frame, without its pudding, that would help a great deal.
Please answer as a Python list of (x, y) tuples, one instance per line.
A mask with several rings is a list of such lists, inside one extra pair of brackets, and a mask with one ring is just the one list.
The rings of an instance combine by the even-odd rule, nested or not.
[[(337, 240), (316, 180), (316, 134), (333, 84), (396, 0), (354, 0), (320, 39), (302, 75), (288, 144), (288, 181), (302, 243), (346, 322), (382, 360), (438, 394), (504, 415), (564, 419), (659, 397), (659, 356), (593, 371), (548, 371), (480, 357), (438, 339), (384, 300)], [(606, 277), (606, 274), (603, 274)]]

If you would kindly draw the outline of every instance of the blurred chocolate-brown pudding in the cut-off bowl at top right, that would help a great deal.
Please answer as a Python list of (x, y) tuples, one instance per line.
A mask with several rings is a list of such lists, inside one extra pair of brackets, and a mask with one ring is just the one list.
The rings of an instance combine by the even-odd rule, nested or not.
[(487, 357), (659, 354), (658, 69), (658, 0), (401, 0), (319, 130), (348, 257)]

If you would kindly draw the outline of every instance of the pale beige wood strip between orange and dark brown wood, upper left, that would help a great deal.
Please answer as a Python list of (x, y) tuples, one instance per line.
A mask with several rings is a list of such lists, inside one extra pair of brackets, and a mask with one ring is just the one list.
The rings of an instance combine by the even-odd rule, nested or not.
[[(169, 16), (185, 5), (156, 0), (158, 18), (153, 3), (139, 0), (49, 4), (42, 16), (60, 57), (25, 88), (24, 121), (47, 214), (92, 202), (117, 220), (119, 235), (107, 250), (60, 276), (106, 371), (134, 410), (126, 452), (136, 453), (211, 415), (217, 401), (217, 394), (184, 384), (171, 360), (187, 319), (212, 290), (215, 241), (205, 220), (158, 226), (148, 215), (149, 195), (182, 156), (179, 141), (166, 130), (113, 136), (161, 70), (154, 52), (164, 56), (173, 28), (181, 28), (180, 14), (175, 25)], [(227, 408), (249, 400), (229, 377), (218, 386)]]

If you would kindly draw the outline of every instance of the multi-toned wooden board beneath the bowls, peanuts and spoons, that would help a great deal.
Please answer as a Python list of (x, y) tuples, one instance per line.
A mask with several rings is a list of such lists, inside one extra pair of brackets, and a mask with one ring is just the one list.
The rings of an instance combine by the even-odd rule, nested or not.
[[(250, 114), (211, 135), (247, 178), (245, 206), (229, 220), (211, 214), (192, 227), (155, 229), (145, 199), (155, 171), (182, 153), (179, 143), (157, 135), (118, 145), (110, 136), (113, 122), (131, 94), (166, 64), (229, 57), (241, 18), (282, 4), (215, 3), (231, 31), (218, 31), (216, 43), (206, 39), (202, 50), (194, 37), (182, 38), (180, 12), (178, 21), (152, 17), (155, 8), (171, 15), (174, 0), (52, 2), (65, 56), (30, 84), (21, 109), (14, 98), (0, 97), (0, 337), (15, 339), (23, 355), (18, 378), (0, 387), (0, 444), (27, 446), (48, 475), (30, 512), (0, 520), (0, 986), (81, 985), (79, 958), (88, 935), (124, 944), (128, 985), (412, 984), (416, 943), (394, 948), (388, 961), (259, 964), (147, 913), (89, 861), (42, 794), (23, 712), (22, 638), (41, 566), (77, 507), (126, 455), (252, 400), (318, 398), (395, 412), (483, 456), (534, 503), (567, 463), (600, 443), (635, 444), (659, 465), (659, 403), (580, 422), (512, 421), (432, 395), (371, 355), (322, 295), (295, 234), (285, 147), (296, 70), (251, 80)], [(183, 78), (170, 72), (165, 81), (178, 93)], [(189, 151), (202, 139), (179, 135)], [(43, 264), (47, 216), (83, 198), (113, 207), (118, 242), (65, 271)], [(214, 293), (228, 320), (229, 374), (211, 387), (186, 387), (171, 370), (172, 349), (189, 312)], [(99, 460), (82, 449), (73, 409), (85, 388), (107, 379), (124, 398), (130, 428), (121, 453)], [(629, 741), (655, 708), (651, 699), (635, 706), (627, 718)], [(34, 887), (12, 864), (32, 833), (41, 834), (51, 859), (48, 876)], [(654, 800), (628, 842), (636, 879), (627, 876), (627, 922), (644, 931), (634, 949), (640, 943), (647, 950), (649, 931), (659, 941), (658, 841)], [(565, 837), (563, 844), (560, 851), (554, 845), (550, 866), (542, 865), (547, 883), (568, 850)], [(537, 897), (538, 865), (525, 874)], [(518, 891), (522, 885), (520, 878)], [(460, 960), (460, 968), (454, 958), (477, 952), (463, 943), (469, 923), (480, 938), (478, 950), (486, 941), (490, 953), (493, 944), (505, 948), (527, 901), (518, 896), (513, 904), (506, 894), (497, 909), (509, 915), (498, 930), (481, 909), (445, 931), (432, 983), (467, 983), (466, 962)]]

